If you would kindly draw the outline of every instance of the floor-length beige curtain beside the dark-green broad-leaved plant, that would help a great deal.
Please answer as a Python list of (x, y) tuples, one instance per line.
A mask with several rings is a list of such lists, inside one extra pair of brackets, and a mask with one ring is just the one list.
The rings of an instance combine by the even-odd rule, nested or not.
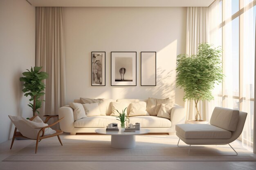
[(43, 66), (49, 74), (40, 117), (57, 115), (58, 108), (66, 104), (63, 28), (62, 7), (36, 7), (36, 66)]

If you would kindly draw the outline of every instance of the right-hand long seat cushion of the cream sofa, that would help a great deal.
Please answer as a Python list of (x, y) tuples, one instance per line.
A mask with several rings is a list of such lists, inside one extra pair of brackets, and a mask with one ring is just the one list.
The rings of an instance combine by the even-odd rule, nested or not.
[(140, 123), (141, 128), (170, 128), (171, 121), (156, 116), (133, 116), (130, 117), (130, 124)]

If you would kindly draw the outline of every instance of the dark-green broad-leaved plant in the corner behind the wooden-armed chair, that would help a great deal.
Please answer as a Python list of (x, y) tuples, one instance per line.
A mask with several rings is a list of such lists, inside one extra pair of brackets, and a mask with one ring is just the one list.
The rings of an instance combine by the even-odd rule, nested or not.
[(46, 72), (40, 71), (42, 67), (35, 66), (34, 69), (31, 67), (30, 71), (27, 69), (26, 72), (23, 72), (24, 77), (20, 77), (20, 81), (24, 82), (22, 89), (24, 95), (30, 96), (28, 106), (32, 108), (33, 116), (38, 113), (38, 108), (42, 106), (42, 99), (39, 99), (43, 96), (45, 90), (45, 84), (42, 80), (47, 79), (48, 74)]

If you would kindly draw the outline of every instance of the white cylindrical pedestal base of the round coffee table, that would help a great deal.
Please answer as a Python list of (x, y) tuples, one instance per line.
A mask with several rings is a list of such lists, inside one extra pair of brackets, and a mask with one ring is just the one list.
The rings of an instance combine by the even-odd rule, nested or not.
[(135, 135), (111, 135), (112, 148), (127, 149), (135, 145)]

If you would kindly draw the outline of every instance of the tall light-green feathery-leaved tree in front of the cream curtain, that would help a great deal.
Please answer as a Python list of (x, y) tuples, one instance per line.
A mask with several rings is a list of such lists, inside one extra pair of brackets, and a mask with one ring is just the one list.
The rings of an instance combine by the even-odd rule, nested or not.
[(196, 55), (177, 56), (176, 86), (184, 89), (184, 101), (195, 102), (196, 121), (202, 121), (198, 102), (213, 100), (212, 90), (215, 84), (223, 80), (221, 54), (220, 46), (215, 48), (211, 44), (202, 43), (199, 44)]

